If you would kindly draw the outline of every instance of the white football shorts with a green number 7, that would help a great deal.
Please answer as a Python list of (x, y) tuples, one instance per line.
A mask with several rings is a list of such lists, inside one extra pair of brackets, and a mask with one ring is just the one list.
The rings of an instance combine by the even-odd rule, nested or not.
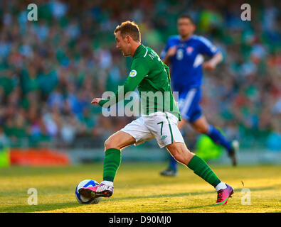
[(174, 142), (184, 143), (178, 128), (179, 119), (169, 112), (155, 112), (144, 115), (124, 126), (120, 131), (132, 135), (139, 145), (156, 138), (160, 148)]

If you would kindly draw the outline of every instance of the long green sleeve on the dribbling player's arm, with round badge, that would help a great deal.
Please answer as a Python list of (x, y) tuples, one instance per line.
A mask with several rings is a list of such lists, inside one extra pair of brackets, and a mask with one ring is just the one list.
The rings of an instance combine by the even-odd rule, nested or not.
[[(149, 67), (144, 57), (138, 57), (133, 60), (131, 66), (131, 72), (129, 72), (129, 76), (124, 82), (123, 86), (120, 87), (114, 95), (110, 97), (110, 99), (102, 100), (99, 102), (100, 106), (107, 104), (107, 108), (116, 104), (118, 101), (122, 101), (124, 96), (126, 96), (127, 92), (132, 92), (137, 88), (142, 79), (149, 73)], [(122, 92), (122, 96), (118, 96)]]

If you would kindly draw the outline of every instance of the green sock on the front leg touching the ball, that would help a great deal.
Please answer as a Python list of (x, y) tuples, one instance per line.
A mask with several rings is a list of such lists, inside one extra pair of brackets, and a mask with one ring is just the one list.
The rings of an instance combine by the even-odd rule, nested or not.
[(116, 148), (105, 150), (103, 162), (103, 180), (113, 182), (121, 162), (121, 151)]

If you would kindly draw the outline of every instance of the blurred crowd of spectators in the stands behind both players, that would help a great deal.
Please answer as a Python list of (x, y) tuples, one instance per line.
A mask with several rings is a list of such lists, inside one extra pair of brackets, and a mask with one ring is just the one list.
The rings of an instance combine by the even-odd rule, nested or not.
[[(27, 6), (38, 6), (38, 21)], [(132, 121), (109, 117), (90, 101), (115, 91), (131, 59), (115, 48), (122, 21), (139, 24), (142, 43), (160, 54), (176, 19), (189, 13), (196, 34), (210, 39), (223, 62), (204, 72), (208, 121), (242, 146), (281, 150), (281, 1), (1, 1), (0, 144), (73, 146), (102, 141)], [(190, 130), (187, 136), (196, 136)]]

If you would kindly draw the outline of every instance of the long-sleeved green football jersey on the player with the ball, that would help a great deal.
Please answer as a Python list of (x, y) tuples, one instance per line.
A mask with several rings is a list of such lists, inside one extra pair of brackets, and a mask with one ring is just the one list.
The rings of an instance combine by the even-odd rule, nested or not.
[[(179, 121), (181, 120), (179, 108), (171, 92), (169, 67), (151, 48), (139, 45), (132, 57), (131, 71), (123, 86), (122, 92), (124, 94), (138, 89), (142, 103), (142, 114), (149, 115), (157, 111), (166, 111), (178, 117)], [(100, 106), (107, 104), (106, 106), (109, 107), (122, 101), (124, 96), (118, 99), (120, 92), (118, 89), (110, 99), (100, 101)]]

